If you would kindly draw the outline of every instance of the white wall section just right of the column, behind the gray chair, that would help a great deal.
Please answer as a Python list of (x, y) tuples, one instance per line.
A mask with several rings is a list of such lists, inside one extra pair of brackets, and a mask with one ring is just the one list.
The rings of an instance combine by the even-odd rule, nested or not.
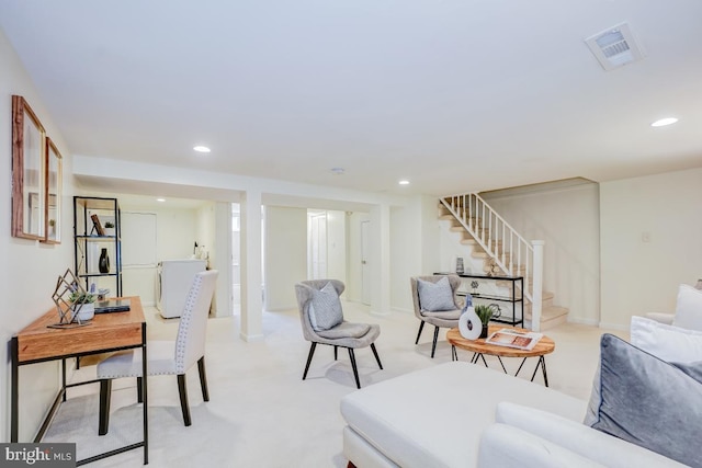
[(265, 207), (265, 310), (297, 308), (295, 283), (307, 278), (307, 209)]

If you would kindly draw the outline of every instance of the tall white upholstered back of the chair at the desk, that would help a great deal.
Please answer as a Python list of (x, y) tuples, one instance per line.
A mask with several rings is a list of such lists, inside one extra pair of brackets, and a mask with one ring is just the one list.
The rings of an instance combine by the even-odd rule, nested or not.
[(218, 274), (216, 270), (200, 272), (190, 286), (176, 339), (177, 374), (184, 374), (205, 355), (207, 317)]

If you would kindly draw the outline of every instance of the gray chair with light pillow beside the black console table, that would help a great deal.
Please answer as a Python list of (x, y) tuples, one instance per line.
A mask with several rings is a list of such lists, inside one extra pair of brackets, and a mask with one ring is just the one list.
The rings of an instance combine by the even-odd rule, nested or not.
[(439, 329), (458, 327), (462, 305), (456, 292), (461, 287), (461, 277), (456, 275), (414, 276), (409, 282), (415, 316), (420, 320), (415, 344), (419, 343), (424, 323), (434, 326), (434, 339), (431, 344), (431, 357), (433, 358), (437, 352)]

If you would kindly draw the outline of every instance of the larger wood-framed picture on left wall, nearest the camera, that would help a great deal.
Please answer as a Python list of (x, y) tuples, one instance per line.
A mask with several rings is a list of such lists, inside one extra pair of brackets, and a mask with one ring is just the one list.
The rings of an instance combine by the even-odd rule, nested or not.
[(12, 96), (12, 236), (44, 240), (45, 132), (32, 107)]

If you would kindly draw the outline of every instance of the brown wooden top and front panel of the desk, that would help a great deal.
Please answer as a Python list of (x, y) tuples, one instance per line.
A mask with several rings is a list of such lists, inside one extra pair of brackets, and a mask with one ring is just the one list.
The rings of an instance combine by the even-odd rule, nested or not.
[(15, 335), (18, 363), (27, 364), (144, 344), (143, 327), (146, 326), (146, 319), (141, 300), (138, 296), (125, 299), (131, 301), (129, 310), (95, 313), (87, 326), (67, 329), (48, 328), (59, 321), (56, 308), (52, 307)]

